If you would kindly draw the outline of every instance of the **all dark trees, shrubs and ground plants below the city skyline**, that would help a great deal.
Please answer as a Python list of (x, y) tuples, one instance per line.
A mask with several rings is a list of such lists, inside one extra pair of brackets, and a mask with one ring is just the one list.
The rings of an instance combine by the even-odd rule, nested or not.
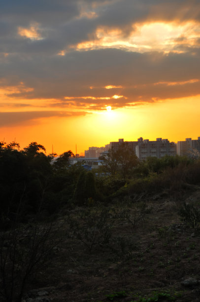
[(195, 301), (180, 282), (200, 276), (200, 159), (125, 144), (88, 172), (71, 156), (0, 143), (0, 301), (49, 284), (69, 301)]

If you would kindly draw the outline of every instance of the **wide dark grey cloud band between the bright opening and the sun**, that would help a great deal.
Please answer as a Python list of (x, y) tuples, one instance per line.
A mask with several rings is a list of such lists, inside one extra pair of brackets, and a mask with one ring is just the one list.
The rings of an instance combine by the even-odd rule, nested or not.
[[(12, 74), (16, 84), (23, 81), (33, 91), (9, 94), (10, 98), (61, 99), (65, 97), (112, 97), (123, 95), (126, 103), (142, 96), (145, 101), (155, 97), (182, 97), (200, 94), (200, 84), (154, 85), (158, 82), (184, 82), (200, 79), (199, 55), (189, 53), (165, 55), (159, 52), (132, 53), (116, 49), (74, 52), (43, 60), (19, 60), (5, 64), (2, 76)], [(5, 69), (4, 69), (5, 70)], [(13, 82), (12, 82), (13, 84)], [(105, 89), (106, 85), (123, 88)], [(97, 87), (90, 89), (91, 86)], [(142, 100), (140, 98), (140, 100)], [(80, 100), (78, 100), (80, 101)], [(66, 101), (67, 102), (67, 101)], [(91, 103), (91, 99), (81, 100)], [(99, 101), (98, 101), (99, 102)], [(106, 101), (107, 102), (107, 101)], [(121, 106), (124, 106), (122, 100)]]

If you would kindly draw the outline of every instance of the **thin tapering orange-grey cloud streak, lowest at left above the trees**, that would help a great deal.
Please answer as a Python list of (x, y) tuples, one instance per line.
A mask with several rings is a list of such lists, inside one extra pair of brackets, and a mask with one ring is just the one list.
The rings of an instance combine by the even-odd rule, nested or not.
[(47, 117), (70, 117), (74, 115), (85, 115), (86, 112), (64, 112), (64, 111), (32, 111), (32, 112), (0, 112), (0, 127), (10, 127), (22, 123), (37, 123), (37, 119)]

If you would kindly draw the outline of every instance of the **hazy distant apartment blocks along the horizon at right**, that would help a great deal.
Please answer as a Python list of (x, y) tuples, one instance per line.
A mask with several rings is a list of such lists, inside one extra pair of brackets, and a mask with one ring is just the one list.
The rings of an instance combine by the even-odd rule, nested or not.
[(185, 141), (178, 141), (177, 144), (169, 142), (168, 139), (157, 138), (155, 141), (149, 141), (140, 137), (137, 141), (132, 142), (119, 139), (118, 142), (110, 142), (104, 147), (89, 147), (88, 150), (85, 150), (85, 156), (76, 154), (75, 158), (71, 158), (71, 164), (84, 161), (86, 165), (98, 168), (101, 165), (101, 160), (99, 160), (101, 154), (106, 154), (111, 148), (116, 151), (120, 144), (125, 143), (135, 152), (140, 160), (145, 160), (149, 156), (161, 158), (165, 155), (174, 156), (176, 154), (181, 156), (187, 155), (193, 158), (200, 157), (200, 136), (197, 140), (186, 138)]

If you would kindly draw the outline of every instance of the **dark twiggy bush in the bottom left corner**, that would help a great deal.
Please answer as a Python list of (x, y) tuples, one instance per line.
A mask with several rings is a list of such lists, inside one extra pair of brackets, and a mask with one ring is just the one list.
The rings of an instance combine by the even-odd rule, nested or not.
[(21, 301), (27, 281), (50, 259), (57, 231), (32, 224), (0, 233), (1, 301)]

